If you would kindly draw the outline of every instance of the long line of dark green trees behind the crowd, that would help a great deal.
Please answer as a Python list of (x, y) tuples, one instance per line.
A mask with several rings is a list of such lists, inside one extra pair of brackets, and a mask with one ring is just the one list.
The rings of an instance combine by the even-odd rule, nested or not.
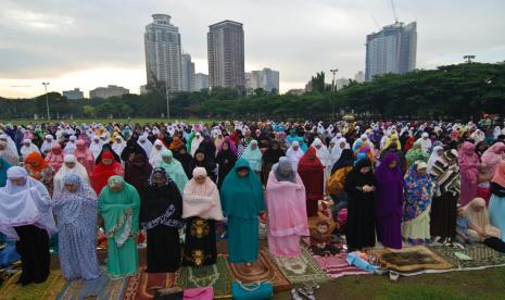
[[(351, 80), (333, 91), (325, 74), (312, 77), (312, 91), (278, 95), (263, 89), (240, 95), (235, 89), (213, 88), (171, 93), (171, 116), (241, 120), (336, 120), (343, 114), (383, 120), (433, 120), (505, 114), (505, 62), (463, 63), (403, 75), (386, 74), (368, 83)], [(50, 92), (51, 117), (160, 117), (166, 112), (163, 83), (147, 95), (109, 99), (68, 100)], [(0, 98), (0, 120), (46, 115), (46, 95), (34, 99)]]

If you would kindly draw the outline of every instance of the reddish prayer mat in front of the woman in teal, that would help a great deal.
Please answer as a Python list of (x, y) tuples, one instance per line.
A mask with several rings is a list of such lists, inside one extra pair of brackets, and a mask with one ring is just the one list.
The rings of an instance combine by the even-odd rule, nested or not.
[[(269, 282), (274, 286), (275, 291), (291, 289), (291, 284), (282, 274), (279, 267), (270, 259), (266, 249), (260, 251), (257, 261), (253, 263), (250, 271), (245, 270), (244, 264), (229, 263), (228, 266), (231, 275), (239, 282), (250, 284), (257, 282)], [(261, 274), (252, 274), (255, 270), (264, 270)]]

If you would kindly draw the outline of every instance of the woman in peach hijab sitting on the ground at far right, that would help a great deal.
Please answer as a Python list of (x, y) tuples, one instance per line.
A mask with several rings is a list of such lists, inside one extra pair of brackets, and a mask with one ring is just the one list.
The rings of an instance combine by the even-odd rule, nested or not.
[[(476, 198), (463, 208), (463, 216), (469, 221), (467, 234), (472, 241), (483, 241), (489, 237), (500, 238), (501, 230), (491, 226), (490, 214), (485, 208), (485, 200)], [(502, 216), (503, 217), (503, 216)], [(460, 240), (463, 241), (464, 240)]]

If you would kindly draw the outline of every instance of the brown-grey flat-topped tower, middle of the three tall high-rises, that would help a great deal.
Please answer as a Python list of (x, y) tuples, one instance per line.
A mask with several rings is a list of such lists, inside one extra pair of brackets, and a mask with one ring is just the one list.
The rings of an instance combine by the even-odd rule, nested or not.
[(209, 26), (207, 58), (211, 87), (244, 89), (242, 24), (223, 21)]

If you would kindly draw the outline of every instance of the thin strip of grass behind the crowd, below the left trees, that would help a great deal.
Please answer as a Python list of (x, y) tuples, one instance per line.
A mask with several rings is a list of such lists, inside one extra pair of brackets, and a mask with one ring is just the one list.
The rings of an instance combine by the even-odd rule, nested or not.
[[(212, 122), (217, 122), (222, 120), (215, 120), (215, 118), (171, 118), (169, 122), (185, 122), (185, 123), (195, 123), (195, 122), (204, 122), (204, 123), (212, 123)], [(45, 120), (22, 120), (22, 118), (16, 118), (16, 120), (0, 120), (0, 123), (7, 124), (7, 123), (12, 123), (12, 124), (35, 124), (35, 123), (42, 123)], [(51, 120), (51, 123), (55, 122), (64, 122), (64, 123), (86, 123), (86, 124), (91, 124), (91, 123), (140, 123), (140, 124), (146, 124), (146, 123), (154, 123), (154, 122), (167, 122), (166, 118), (157, 117), (157, 118), (139, 118), (139, 117), (132, 117), (130, 120), (128, 118), (62, 118), (62, 120)]]

